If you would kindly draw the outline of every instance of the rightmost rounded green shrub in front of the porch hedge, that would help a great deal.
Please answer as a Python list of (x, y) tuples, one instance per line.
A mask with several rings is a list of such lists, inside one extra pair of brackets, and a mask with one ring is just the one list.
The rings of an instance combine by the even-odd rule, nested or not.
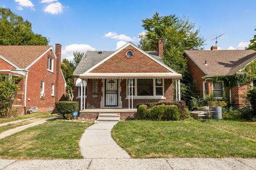
[(165, 106), (165, 111), (163, 115), (164, 120), (173, 120), (173, 121), (178, 121), (180, 119), (180, 112), (179, 108), (176, 105), (170, 105), (170, 106)]

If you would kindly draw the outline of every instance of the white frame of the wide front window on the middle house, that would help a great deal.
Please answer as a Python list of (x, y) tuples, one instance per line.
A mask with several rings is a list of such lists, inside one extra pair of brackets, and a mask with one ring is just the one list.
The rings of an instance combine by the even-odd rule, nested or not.
[[(164, 94), (164, 80), (165, 79), (163, 79), (163, 86), (156, 86), (156, 79), (153, 79), (153, 96), (138, 96), (137, 95), (137, 79), (134, 79), (134, 85), (135, 85), (135, 87), (134, 87), (134, 95), (133, 95), (133, 99), (166, 99), (165, 98), (165, 94)], [(129, 86), (129, 84), (128, 84), (128, 79), (126, 79), (126, 98), (125, 99), (127, 99), (129, 96), (128, 96), (128, 87)], [(157, 95), (156, 96), (156, 87), (163, 87), (163, 95)], [(131, 88), (131, 86), (130, 86), (130, 88)]]

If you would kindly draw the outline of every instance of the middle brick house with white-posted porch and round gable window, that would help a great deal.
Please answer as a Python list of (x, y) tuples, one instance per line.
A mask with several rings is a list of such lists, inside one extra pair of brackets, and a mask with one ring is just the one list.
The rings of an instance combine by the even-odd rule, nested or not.
[(95, 120), (99, 113), (119, 113), (127, 120), (134, 118), (139, 103), (180, 100), (182, 75), (165, 65), (162, 55), (162, 40), (158, 52), (130, 42), (114, 52), (87, 51), (74, 72), (80, 117)]

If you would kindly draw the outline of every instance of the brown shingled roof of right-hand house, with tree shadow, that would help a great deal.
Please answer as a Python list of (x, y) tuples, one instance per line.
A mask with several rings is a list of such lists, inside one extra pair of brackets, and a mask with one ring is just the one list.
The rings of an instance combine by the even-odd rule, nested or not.
[[(255, 50), (185, 50), (185, 54), (207, 75), (232, 75), (256, 59)], [(205, 61), (207, 65), (205, 65)]]

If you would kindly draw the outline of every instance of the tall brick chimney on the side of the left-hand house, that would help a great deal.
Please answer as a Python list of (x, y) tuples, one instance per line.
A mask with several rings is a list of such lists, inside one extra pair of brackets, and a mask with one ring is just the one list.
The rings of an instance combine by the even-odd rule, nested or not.
[(61, 44), (55, 44), (56, 60), (56, 77), (55, 77), (55, 102), (59, 101), (59, 79), (61, 77)]

